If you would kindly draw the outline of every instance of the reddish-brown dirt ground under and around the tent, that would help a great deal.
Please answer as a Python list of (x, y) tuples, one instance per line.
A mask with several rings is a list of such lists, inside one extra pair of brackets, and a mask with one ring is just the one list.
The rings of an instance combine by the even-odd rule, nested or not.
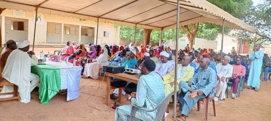
[[(35, 48), (39, 51), (53, 52), (59, 48)], [(49, 104), (40, 104), (38, 98), (38, 89), (31, 92), (34, 97), (29, 103), (24, 104), (16, 100), (0, 102), (0, 121), (78, 121), (78, 120), (95, 120), (95, 121), (112, 121), (115, 120), (115, 111), (111, 108), (113, 101), (109, 106), (105, 105), (105, 88), (106, 82), (93, 79), (80, 80), (80, 96), (77, 99), (66, 101), (67, 94), (57, 94)], [(260, 82), (260, 91), (255, 92), (247, 88), (241, 92), (239, 98), (226, 98), (225, 101), (215, 102), (216, 117), (213, 113), (212, 104), (209, 102), (208, 120), (259, 120), (267, 121), (271, 118), (271, 81)], [(246, 84), (245, 84), (246, 85)], [(231, 95), (231, 90), (229, 95)], [(130, 101), (125, 100), (126, 95), (122, 97), (120, 105), (129, 105)], [(188, 121), (203, 120), (203, 105), (201, 111), (196, 111), (195, 106), (190, 112)], [(169, 104), (170, 115), (167, 121), (172, 121), (173, 103)], [(178, 105), (177, 105), (178, 110)]]

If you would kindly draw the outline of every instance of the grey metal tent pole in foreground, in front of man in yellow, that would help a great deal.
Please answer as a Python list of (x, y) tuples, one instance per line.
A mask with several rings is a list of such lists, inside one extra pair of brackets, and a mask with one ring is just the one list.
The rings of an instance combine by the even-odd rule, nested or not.
[[(176, 46), (175, 49), (178, 48), (179, 43), (179, 16), (180, 16), (180, 0), (177, 3), (177, 24), (176, 24)], [(175, 60), (178, 60), (178, 51), (175, 51)], [(177, 75), (178, 61), (175, 61), (175, 75)], [(174, 116), (173, 119), (176, 119), (176, 106), (177, 106), (177, 76), (174, 77)]]

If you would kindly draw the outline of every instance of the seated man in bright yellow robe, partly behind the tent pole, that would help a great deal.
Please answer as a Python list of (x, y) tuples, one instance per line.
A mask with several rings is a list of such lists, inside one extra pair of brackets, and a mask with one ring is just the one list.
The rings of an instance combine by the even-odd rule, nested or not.
[[(177, 91), (179, 89), (180, 81), (189, 82), (194, 74), (194, 68), (189, 65), (191, 57), (189, 55), (184, 56), (181, 64), (178, 64), (178, 72), (177, 72)], [(170, 92), (174, 91), (174, 73), (175, 70), (163, 76), (165, 94), (166, 96), (170, 94)], [(168, 106), (166, 108), (165, 116), (169, 115)]]

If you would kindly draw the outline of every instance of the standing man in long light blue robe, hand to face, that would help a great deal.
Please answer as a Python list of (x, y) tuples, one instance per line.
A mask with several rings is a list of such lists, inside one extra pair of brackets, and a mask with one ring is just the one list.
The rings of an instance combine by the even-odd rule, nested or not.
[(251, 60), (249, 79), (247, 80), (247, 86), (249, 89), (254, 89), (258, 92), (260, 89), (260, 74), (263, 65), (263, 54), (260, 50), (261, 44), (256, 44), (253, 48), (253, 52), (249, 55)]

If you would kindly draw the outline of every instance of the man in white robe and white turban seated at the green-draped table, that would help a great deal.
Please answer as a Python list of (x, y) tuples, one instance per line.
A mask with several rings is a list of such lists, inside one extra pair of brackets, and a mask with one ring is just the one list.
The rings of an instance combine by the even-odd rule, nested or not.
[[(21, 102), (30, 102), (30, 92), (40, 82), (40, 76), (31, 73), (31, 66), (38, 64), (38, 58), (33, 51), (29, 50), (29, 41), (24, 40), (17, 44), (8, 56), (3, 70), (3, 78), (18, 86)], [(26, 53), (28, 52), (28, 54)], [(13, 86), (4, 86), (1, 93), (13, 92)], [(12, 97), (13, 95), (2, 95), (0, 98)]]

